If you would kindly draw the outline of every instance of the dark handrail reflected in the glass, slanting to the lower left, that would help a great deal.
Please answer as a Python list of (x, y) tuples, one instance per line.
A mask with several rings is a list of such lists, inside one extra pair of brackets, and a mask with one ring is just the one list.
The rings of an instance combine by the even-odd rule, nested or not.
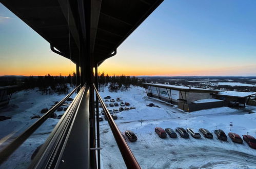
[(66, 97), (64, 97), (60, 102), (58, 102), (54, 107), (52, 107), (48, 112), (45, 113), (40, 119), (34, 122), (26, 131), (24, 131), (21, 135), (16, 137), (10, 144), (8, 144), (4, 149), (0, 152), (0, 164), (5, 162), (8, 157), (16, 150), (19, 146), (23, 144), (24, 141), (27, 140), (31, 134), (34, 133), (36, 129), (38, 129), (49, 117), (50, 115), (56, 111), (58, 107), (60, 107), (81, 85), (77, 86), (72, 92), (70, 92)]

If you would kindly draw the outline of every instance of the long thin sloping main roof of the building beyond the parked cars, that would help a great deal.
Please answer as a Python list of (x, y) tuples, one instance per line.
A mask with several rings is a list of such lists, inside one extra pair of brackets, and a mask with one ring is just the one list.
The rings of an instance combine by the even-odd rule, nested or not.
[(154, 86), (154, 87), (185, 91), (185, 92), (202, 92), (202, 93), (219, 93), (220, 92), (220, 90), (190, 88), (190, 87), (186, 87), (186, 86), (164, 85), (164, 84), (154, 84), (154, 83), (143, 83), (143, 84), (149, 85), (149, 86)]

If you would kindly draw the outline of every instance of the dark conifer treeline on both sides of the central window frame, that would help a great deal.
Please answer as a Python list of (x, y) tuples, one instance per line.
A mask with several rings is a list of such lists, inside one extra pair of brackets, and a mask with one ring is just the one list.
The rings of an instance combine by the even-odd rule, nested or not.
[[(17, 85), (16, 90), (32, 90), (38, 88), (41, 94), (67, 94), (69, 88), (76, 86), (76, 74), (69, 76), (52, 76), (50, 74), (45, 76), (29, 76), (22, 78), (6, 79), (2, 77), (1, 86)], [(98, 74), (99, 91), (104, 91), (108, 86), (110, 92), (127, 91), (130, 85), (142, 86), (145, 79), (137, 78), (135, 76), (109, 76), (105, 73)]]

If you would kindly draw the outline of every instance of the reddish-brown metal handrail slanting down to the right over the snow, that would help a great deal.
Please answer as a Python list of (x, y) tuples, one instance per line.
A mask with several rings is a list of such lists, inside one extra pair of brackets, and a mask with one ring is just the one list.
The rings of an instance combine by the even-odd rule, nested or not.
[(141, 168), (140, 164), (137, 162), (134, 155), (132, 154), (129, 145), (127, 144), (124, 137), (120, 133), (119, 128), (117, 127), (113, 118), (111, 117), (110, 113), (108, 112), (108, 109), (107, 109), (105, 103), (103, 102), (103, 100), (102, 100), (102, 98), (101, 98), (101, 96), (100, 96), (99, 92), (97, 91), (94, 84), (93, 84), (93, 88), (95, 90), (95, 93), (96, 93), (97, 97), (99, 98), (99, 100), (102, 104), (102, 109), (105, 112), (105, 115), (106, 115), (107, 120), (108, 120), (108, 124), (109, 124), (110, 129), (113, 133), (115, 141), (116, 141), (116, 143), (119, 147), (119, 150), (120, 150), (120, 152), (123, 156), (123, 159), (125, 161), (125, 164), (126, 164), (127, 168)]

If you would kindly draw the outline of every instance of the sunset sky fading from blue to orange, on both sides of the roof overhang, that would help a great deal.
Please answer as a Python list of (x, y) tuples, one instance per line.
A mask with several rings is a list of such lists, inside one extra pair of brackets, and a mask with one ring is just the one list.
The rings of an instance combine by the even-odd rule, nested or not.
[[(109, 75), (256, 76), (256, 1), (166, 0), (106, 60)], [(0, 76), (75, 65), (0, 4)]]

